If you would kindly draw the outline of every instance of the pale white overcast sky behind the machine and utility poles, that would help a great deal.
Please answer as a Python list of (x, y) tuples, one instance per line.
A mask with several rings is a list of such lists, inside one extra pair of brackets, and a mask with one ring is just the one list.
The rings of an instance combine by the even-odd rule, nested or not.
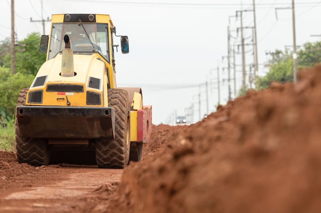
[[(23, 40), (32, 32), (43, 34), (41, 0), (15, 0), (15, 32)], [(129, 37), (130, 53), (116, 54), (117, 86), (142, 87), (144, 105), (153, 106), (153, 124), (174, 124), (174, 117), (194, 112), (194, 122), (218, 103), (217, 67), (220, 78), (220, 103), (228, 99), (227, 27), (237, 37), (240, 18), (236, 11), (252, 10), (253, 0), (43, 0), (43, 18), (51, 14), (109, 14), (117, 35)], [(255, 0), (259, 75), (264, 75), (270, 55), (276, 49), (292, 50), (291, 0)], [(10, 37), (10, 0), (1, 0), (0, 41)], [(277, 10), (275, 8), (278, 8)], [(288, 8), (288, 9), (285, 9)], [(295, 0), (296, 44), (318, 41), (321, 1)], [(276, 19), (277, 13), (277, 19)], [(234, 17), (233, 17), (234, 16)], [(239, 16), (239, 13), (238, 13)], [(243, 12), (246, 43), (252, 42), (253, 12)], [(46, 22), (46, 34), (50, 23)], [(117, 40), (117, 38), (116, 38)], [(240, 42), (231, 39), (231, 45)], [(118, 42), (120, 43), (120, 41)], [(253, 64), (252, 45), (246, 46), (247, 72)], [(239, 50), (241, 50), (239, 48)], [(242, 84), (242, 55), (236, 54), (236, 91)], [(231, 57), (231, 62), (233, 58)], [(224, 70), (223, 70), (224, 68)], [(252, 71), (253, 72), (253, 71)], [(233, 69), (231, 69), (233, 78)], [(231, 81), (232, 98), (234, 82)], [(200, 94), (200, 108), (198, 97)], [(200, 109), (200, 111), (199, 111)], [(191, 110), (190, 110), (191, 111)], [(200, 112), (200, 113), (199, 113)]]

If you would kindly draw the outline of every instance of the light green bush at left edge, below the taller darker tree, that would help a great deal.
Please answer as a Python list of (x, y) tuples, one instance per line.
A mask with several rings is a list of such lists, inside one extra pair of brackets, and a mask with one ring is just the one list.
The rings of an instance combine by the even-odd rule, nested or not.
[(22, 88), (29, 88), (34, 79), (33, 75), (17, 73), (11, 76), (8, 68), (0, 67), (0, 106), (12, 117), (15, 113), (17, 98)]

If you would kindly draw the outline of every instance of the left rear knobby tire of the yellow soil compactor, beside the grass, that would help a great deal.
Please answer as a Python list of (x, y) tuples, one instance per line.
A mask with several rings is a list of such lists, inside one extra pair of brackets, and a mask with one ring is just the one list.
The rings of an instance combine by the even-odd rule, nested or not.
[[(17, 106), (25, 106), (28, 89), (19, 93)], [(15, 147), (19, 163), (29, 163), (35, 167), (48, 165), (50, 149), (48, 141), (43, 138), (25, 138), (21, 136), (17, 115), (15, 116)]]

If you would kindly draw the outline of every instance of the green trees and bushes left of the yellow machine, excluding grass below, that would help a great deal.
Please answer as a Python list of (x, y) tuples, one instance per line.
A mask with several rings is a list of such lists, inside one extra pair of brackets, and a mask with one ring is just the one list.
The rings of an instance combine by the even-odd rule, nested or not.
[(14, 115), (17, 97), (22, 88), (32, 84), (38, 69), (46, 61), (46, 55), (39, 52), (40, 35), (31, 33), (15, 46), (16, 74), (11, 76), (10, 40), (0, 44), (0, 108), (2, 113)]

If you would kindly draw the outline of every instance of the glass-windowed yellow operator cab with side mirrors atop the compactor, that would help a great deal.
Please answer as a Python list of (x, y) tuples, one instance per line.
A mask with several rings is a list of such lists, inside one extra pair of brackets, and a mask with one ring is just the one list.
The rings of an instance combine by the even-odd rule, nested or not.
[[(57, 15), (52, 21), (51, 35), (43, 35), (39, 51), (47, 53), (47, 60), (54, 58), (63, 49), (69, 48), (64, 41), (65, 36), (69, 37), (70, 49), (74, 54), (92, 54), (98, 53), (109, 64), (113, 62), (113, 44), (112, 34), (116, 35), (115, 27), (112, 26), (111, 20), (103, 20), (102, 15), (93, 14), (61, 14)], [(99, 20), (96, 21), (96, 20)], [(103, 20), (103, 21), (102, 21)], [(128, 37), (121, 37), (122, 53), (129, 52)], [(49, 43), (49, 44), (48, 44)]]

